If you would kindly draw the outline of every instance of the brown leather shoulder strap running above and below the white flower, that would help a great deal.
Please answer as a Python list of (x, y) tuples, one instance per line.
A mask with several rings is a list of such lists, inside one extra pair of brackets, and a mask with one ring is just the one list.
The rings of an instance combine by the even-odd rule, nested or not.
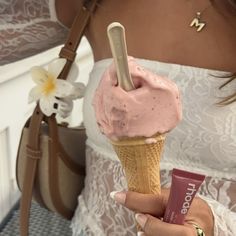
[[(91, 13), (95, 10), (98, 0), (91, 0), (89, 4), (83, 6), (76, 16), (74, 23), (68, 35), (65, 46), (61, 49), (60, 57), (66, 58), (67, 63), (62, 70), (60, 78), (66, 79), (72, 62), (76, 56), (76, 50), (83, 36), (85, 27), (89, 21)], [(37, 171), (37, 163), (40, 159), (40, 140), (39, 129), (44, 119), (44, 115), (36, 106), (29, 125), (29, 140), (26, 154), (26, 169), (24, 173), (24, 181), (22, 186), (22, 196), (20, 201), (20, 235), (28, 236), (29, 215), (32, 199), (33, 186), (35, 182), (35, 175)], [(37, 131), (37, 132), (35, 132)]]

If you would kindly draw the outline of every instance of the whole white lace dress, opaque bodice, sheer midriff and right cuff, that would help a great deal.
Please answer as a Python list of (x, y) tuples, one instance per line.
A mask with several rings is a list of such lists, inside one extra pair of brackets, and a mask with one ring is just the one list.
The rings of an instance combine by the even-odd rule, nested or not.
[[(136, 235), (134, 215), (116, 204), (109, 194), (127, 188), (112, 146), (99, 132), (91, 105), (102, 73), (111, 63), (95, 63), (84, 100), (87, 129), (87, 178), (72, 221), (73, 236)], [(183, 120), (167, 135), (161, 160), (161, 180), (169, 186), (176, 167), (207, 176), (199, 194), (215, 217), (215, 236), (236, 235), (236, 104), (218, 107), (220, 98), (236, 90), (219, 90), (226, 73), (190, 66), (139, 59), (154, 73), (175, 81), (182, 93)], [(234, 87), (233, 87), (234, 86)]]

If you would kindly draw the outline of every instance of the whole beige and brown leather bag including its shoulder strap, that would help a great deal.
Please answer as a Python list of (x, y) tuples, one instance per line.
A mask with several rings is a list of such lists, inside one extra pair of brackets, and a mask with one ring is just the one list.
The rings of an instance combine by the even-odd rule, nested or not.
[[(60, 79), (66, 79), (76, 49), (97, 0), (87, 0), (72, 25), (59, 56), (66, 58)], [(20, 235), (28, 235), (31, 199), (71, 219), (85, 177), (85, 131), (83, 127), (58, 125), (55, 115), (46, 117), (37, 104), (26, 122), (17, 154), (16, 178), (22, 192)]]

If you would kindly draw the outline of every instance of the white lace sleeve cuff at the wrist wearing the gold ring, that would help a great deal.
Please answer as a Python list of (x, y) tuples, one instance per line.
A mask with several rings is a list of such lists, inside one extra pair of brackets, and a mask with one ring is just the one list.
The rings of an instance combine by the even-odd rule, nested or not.
[(236, 235), (236, 212), (226, 208), (221, 203), (203, 196), (199, 196), (210, 206), (214, 215), (214, 236)]

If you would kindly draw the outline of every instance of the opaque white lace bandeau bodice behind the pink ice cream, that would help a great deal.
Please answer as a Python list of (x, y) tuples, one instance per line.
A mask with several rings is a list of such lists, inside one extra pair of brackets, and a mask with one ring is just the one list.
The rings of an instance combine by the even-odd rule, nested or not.
[[(203, 172), (208, 176), (235, 179), (236, 106), (219, 107), (216, 103), (236, 87), (218, 89), (225, 72), (137, 59), (141, 66), (168, 76), (179, 87), (183, 103), (183, 120), (167, 134), (161, 167)], [(88, 145), (108, 159), (117, 160), (107, 138), (101, 134), (92, 106), (95, 90), (112, 59), (95, 63), (84, 99), (84, 123)]]

